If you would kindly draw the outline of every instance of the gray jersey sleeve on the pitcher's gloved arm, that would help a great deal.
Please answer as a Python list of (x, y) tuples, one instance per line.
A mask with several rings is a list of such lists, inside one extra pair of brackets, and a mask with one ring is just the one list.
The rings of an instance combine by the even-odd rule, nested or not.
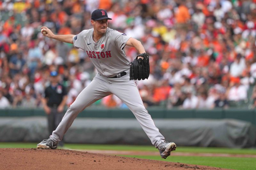
[(120, 50), (123, 50), (126, 42), (129, 40), (129, 38), (131, 38), (125, 33), (120, 33), (118, 31), (113, 31), (111, 37), (113, 38), (115, 46)]

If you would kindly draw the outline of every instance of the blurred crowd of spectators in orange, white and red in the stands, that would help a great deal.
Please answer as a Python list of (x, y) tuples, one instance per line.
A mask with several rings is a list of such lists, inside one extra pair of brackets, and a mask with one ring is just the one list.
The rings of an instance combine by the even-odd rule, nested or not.
[[(92, 28), (97, 8), (108, 11), (110, 28), (149, 53), (150, 76), (137, 82), (146, 107), (256, 106), (256, 0), (4, 0), (0, 108), (41, 107), (52, 70), (68, 89), (67, 106), (76, 99), (97, 71), (83, 50), (42, 36), (40, 28), (78, 34)], [(130, 61), (138, 55), (131, 47), (125, 52)], [(126, 107), (114, 95), (93, 105)]]

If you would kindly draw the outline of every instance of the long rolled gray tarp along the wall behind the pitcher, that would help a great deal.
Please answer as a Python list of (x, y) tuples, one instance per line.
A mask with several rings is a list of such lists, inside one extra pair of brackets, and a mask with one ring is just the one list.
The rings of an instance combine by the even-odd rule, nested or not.
[[(256, 128), (232, 119), (154, 119), (166, 141), (179, 146), (255, 147)], [(40, 142), (48, 138), (45, 117), (1, 117), (0, 142)], [(66, 143), (151, 144), (136, 119), (76, 118)]]

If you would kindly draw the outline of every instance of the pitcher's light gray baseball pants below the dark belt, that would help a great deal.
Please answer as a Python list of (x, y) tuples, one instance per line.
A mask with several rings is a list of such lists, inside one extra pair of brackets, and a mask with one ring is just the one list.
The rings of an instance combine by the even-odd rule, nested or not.
[(55, 142), (61, 141), (63, 135), (81, 111), (110, 94), (116, 95), (129, 107), (152, 144), (157, 148), (164, 141), (164, 137), (156, 128), (144, 107), (137, 84), (134, 80), (129, 80), (129, 74), (120, 78), (106, 78), (97, 74), (70, 105), (59, 126), (52, 132), (50, 139)]

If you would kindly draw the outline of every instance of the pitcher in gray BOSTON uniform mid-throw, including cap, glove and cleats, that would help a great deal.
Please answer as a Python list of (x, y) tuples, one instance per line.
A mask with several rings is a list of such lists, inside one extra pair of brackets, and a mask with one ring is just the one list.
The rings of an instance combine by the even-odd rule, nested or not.
[[(41, 28), (41, 33), (48, 38), (71, 43), (76, 48), (83, 49), (96, 67), (98, 74), (70, 105), (50, 138), (37, 144), (37, 148), (56, 149), (63, 135), (81, 111), (95, 101), (114, 94), (129, 107), (152, 144), (158, 148), (161, 157), (166, 159), (171, 151), (176, 149), (176, 144), (166, 142), (156, 128), (142, 103), (135, 82), (136, 79), (148, 78), (148, 54), (140, 41), (108, 28), (108, 19), (111, 18), (108, 18), (107, 11), (97, 9), (92, 12), (91, 17), (93, 28), (83, 30), (77, 35), (55, 35), (47, 27)], [(125, 56), (126, 45), (136, 48), (139, 53), (132, 63)]]

